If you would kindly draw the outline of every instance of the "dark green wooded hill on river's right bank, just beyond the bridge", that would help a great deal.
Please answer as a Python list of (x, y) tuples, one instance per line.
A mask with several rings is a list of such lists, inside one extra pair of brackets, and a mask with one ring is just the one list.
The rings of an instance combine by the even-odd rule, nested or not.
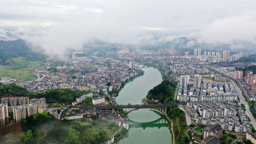
[(177, 83), (169, 82), (169, 80), (162, 81), (153, 89), (148, 91), (148, 100), (156, 99), (161, 103), (171, 103), (174, 99), (174, 92), (177, 87)]

